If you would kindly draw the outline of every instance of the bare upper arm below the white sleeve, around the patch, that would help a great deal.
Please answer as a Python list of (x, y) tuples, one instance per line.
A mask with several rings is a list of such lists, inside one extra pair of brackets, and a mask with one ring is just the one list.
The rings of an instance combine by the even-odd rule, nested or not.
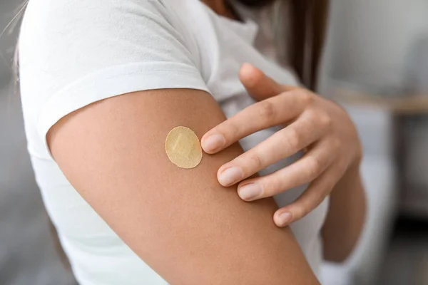
[(318, 284), (272, 199), (245, 203), (216, 172), (243, 150), (204, 154), (191, 170), (165, 155), (178, 125), (200, 138), (224, 120), (199, 90), (148, 90), (108, 98), (48, 133), (73, 187), (141, 259), (171, 284)]

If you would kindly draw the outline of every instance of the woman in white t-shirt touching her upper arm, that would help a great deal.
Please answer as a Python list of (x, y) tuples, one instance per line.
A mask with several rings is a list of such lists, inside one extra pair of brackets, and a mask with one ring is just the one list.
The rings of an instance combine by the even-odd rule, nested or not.
[[(360, 142), (341, 108), (290, 87), (248, 8), (267, 2), (29, 1), (28, 148), (80, 284), (319, 284), (322, 248), (336, 261), (351, 252), (365, 212)], [(313, 86), (310, 29), (298, 26), (310, 2), (289, 3), (301, 31), (289, 62)], [(165, 155), (180, 125), (207, 153), (191, 170)]]

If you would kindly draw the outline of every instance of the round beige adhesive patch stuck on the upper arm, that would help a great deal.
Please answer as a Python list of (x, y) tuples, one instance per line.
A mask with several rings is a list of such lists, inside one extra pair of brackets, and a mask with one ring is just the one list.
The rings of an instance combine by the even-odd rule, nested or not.
[(166, 155), (173, 164), (181, 168), (193, 168), (202, 160), (202, 147), (198, 136), (186, 127), (170, 130), (165, 140)]

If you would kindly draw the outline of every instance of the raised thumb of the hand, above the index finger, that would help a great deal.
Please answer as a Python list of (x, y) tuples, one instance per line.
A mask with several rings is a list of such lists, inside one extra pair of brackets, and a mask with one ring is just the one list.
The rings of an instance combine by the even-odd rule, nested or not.
[(258, 101), (298, 88), (297, 86), (284, 86), (277, 83), (250, 63), (244, 63), (241, 66), (239, 78), (248, 93)]

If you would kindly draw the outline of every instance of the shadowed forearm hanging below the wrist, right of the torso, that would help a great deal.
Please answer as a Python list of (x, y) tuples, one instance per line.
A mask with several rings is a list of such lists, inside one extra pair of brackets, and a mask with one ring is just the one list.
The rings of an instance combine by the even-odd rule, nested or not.
[(365, 213), (365, 189), (357, 162), (330, 195), (330, 209), (322, 229), (325, 259), (340, 262), (352, 253), (362, 232)]

